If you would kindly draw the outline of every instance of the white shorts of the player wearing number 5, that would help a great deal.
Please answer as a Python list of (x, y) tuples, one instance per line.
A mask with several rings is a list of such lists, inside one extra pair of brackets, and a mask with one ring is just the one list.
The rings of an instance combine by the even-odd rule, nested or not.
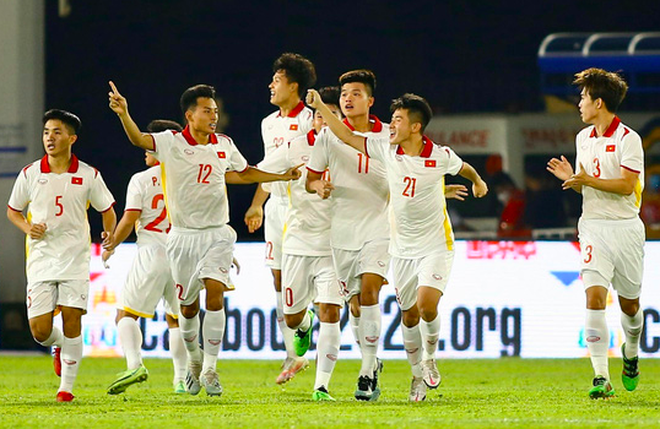
[(87, 313), (89, 279), (46, 280), (28, 283), (28, 319), (50, 313), (58, 307), (81, 308)]

